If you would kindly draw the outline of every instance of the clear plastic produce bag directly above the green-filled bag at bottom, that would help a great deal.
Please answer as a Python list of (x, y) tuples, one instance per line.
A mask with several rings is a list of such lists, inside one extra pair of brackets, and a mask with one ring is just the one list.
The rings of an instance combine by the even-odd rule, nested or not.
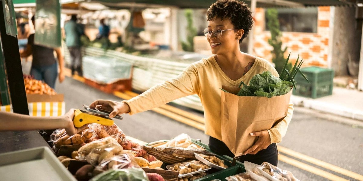
[(122, 168), (139, 168), (140, 166), (136, 163), (134, 156), (124, 153), (122, 155), (116, 155), (109, 159), (102, 160), (96, 167), (101, 170), (108, 169), (122, 169)]

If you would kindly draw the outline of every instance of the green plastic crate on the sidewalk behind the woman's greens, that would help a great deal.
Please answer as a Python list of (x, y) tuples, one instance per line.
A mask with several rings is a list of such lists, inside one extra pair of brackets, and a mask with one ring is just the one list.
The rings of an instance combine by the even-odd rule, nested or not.
[(334, 70), (321, 67), (306, 67), (300, 70), (311, 84), (298, 73), (294, 79), (296, 81), (296, 89), (293, 89), (294, 95), (319, 98), (333, 94)]

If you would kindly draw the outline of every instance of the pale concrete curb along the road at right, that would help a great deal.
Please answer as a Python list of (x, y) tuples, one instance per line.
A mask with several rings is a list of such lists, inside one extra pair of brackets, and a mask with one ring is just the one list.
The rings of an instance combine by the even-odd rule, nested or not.
[(294, 106), (314, 109), (325, 113), (335, 114), (342, 117), (347, 117), (359, 121), (363, 121), (363, 111), (346, 108), (338, 104), (330, 104), (323, 101), (313, 100), (311, 98), (291, 96), (291, 101)]

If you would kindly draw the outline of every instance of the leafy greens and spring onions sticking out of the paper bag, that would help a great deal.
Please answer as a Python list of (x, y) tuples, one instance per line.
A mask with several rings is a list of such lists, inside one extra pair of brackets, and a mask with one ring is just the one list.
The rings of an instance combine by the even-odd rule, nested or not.
[[(290, 92), (291, 87), (295, 87), (295, 76), (300, 73), (307, 82), (307, 78), (301, 72), (300, 68), (302, 66), (302, 59), (299, 62), (299, 56), (295, 62), (293, 68), (288, 71), (286, 69), (287, 64), (289, 63), (290, 54), (287, 57), (285, 64), (282, 67), (282, 71), (280, 73), (280, 77), (275, 77), (271, 72), (266, 71), (261, 74), (257, 74), (252, 77), (249, 81), (249, 84), (246, 85), (243, 81), (238, 87), (241, 87), (240, 91), (238, 91), (237, 96), (258, 96), (258, 97), (268, 97), (271, 98), (273, 96), (281, 96)], [(310, 83), (310, 82), (309, 82)], [(224, 89), (221, 89), (224, 92), (227, 92)]]

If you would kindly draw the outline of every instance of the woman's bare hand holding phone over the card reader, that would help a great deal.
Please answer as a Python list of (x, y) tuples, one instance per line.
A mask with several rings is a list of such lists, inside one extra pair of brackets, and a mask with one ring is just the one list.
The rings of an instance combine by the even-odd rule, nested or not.
[(111, 100), (96, 100), (90, 105), (90, 107), (110, 111), (110, 118), (115, 117), (117, 114), (130, 112), (130, 106), (125, 102), (116, 102)]

